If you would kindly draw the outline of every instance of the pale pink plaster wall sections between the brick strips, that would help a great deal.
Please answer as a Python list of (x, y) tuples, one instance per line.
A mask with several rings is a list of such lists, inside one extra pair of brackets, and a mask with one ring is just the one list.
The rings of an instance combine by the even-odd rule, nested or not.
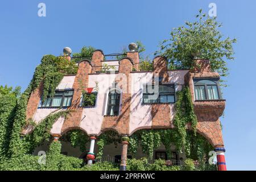
[[(176, 85), (176, 91), (181, 90), (182, 85), (184, 84), (184, 75), (188, 71), (168, 71), (169, 82), (170, 84)], [(149, 129), (152, 126), (151, 118), (151, 105), (142, 104), (142, 85), (152, 81), (152, 72), (135, 72), (130, 73), (131, 80), (131, 113), (130, 113), (130, 125), (129, 125), (129, 134), (134, 133), (139, 129)], [(110, 75), (106, 73), (101, 73), (98, 75), (89, 75), (88, 87), (94, 88), (96, 82), (98, 82), (99, 91), (96, 100), (95, 107), (84, 107), (82, 110), (82, 119), (80, 123), (80, 128), (85, 130), (89, 134), (101, 134), (101, 125), (106, 113), (106, 106), (108, 100), (108, 91), (112, 87), (115, 77), (118, 77), (118, 74)], [(72, 88), (73, 81), (75, 76), (65, 76), (59, 85), (59, 89)], [(122, 94), (121, 94), (122, 97)], [(170, 104), (171, 108), (171, 118), (174, 117), (174, 104)], [(36, 122), (44, 119), (48, 114), (56, 109), (38, 109), (34, 120)], [(59, 118), (52, 127), (52, 134), (60, 134), (61, 127), (63, 126), (64, 119)]]

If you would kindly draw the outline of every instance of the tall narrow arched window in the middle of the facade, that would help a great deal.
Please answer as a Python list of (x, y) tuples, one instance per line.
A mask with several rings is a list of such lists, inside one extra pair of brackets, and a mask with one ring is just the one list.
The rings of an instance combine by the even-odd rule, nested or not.
[(110, 89), (107, 115), (118, 115), (120, 104), (120, 93), (117, 89)]

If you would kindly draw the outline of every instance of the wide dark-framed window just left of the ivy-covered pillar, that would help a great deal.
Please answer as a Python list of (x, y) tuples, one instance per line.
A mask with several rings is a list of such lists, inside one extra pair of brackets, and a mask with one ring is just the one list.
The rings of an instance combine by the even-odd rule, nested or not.
[(175, 86), (159, 85), (158, 93), (154, 93), (154, 85), (143, 85), (143, 103), (175, 103)]

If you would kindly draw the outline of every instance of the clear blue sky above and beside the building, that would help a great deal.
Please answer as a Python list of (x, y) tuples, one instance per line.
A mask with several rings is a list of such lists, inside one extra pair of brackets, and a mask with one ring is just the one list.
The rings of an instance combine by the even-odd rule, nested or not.
[[(46, 17), (38, 16), (38, 4), (46, 4)], [(229, 170), (256, 169), (256, 60), (255, 0), (118, 1), (23, 0), (1, 1), (0, 85), (22, 86), (30, 82), (43, 55), (60, 55), (64, 47), (79, 52), (82, 46), (121, 52), (123, 46), (141, 40), (146, 52), (158, 49), (172, 28), (194, 20), (200, 8), (217, 5), (220, 31), (237, 38), (236, 60), (230, 61), (223, 137)]]

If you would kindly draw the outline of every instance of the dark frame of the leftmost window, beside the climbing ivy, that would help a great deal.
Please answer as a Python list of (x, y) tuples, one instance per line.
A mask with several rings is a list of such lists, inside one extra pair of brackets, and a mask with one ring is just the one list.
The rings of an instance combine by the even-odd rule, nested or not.
[[(42, 98), (41, 98), (41, 100), (40, 100), (40, 102), (39, 102), (39, 106), (38, 106), (38, 108), (40, 108), (40, 109), (44, 109), (44, 108), (67, 108), (67, 107), (71, 107), (71, 105), (70, 106), (63, 106), (63, 104), (64, 104), (64, 99), (65, 99), (65, 92), (73, 92), (73, 94), (72, 94), (72, 96), (71, 95), (68, 95), (68, 96), (66, 96), (66, 97), (71, 97), (71, 105), (72, 105), (72, 100), (73, 100), (73, 96), (74, 96), (74, 90), (73, 89), (67, 89), (67, 90), (55, 90), (55, 95), (56, 95), (56, 93), (62, 93), (62, 95), (61, 95), (61, 101), (60, 101), (60, 106), (52, 106), (52, 101), (53, 101), (53, 98), (55, 97), (55, 95), (52, 97), (52, 98), (50, 98), (50, 97), (47, 97), (47, 99), (46, 99), (46, 101), (48, 100), (48, 99), (51, 99), (51, 101), (50, 101), (50, 103), (49, 103), (49, 106), (42, 106), (43, 105), (43, 103), (42, 103)], [(45, 102), (46, 102), (45, 101)]]

